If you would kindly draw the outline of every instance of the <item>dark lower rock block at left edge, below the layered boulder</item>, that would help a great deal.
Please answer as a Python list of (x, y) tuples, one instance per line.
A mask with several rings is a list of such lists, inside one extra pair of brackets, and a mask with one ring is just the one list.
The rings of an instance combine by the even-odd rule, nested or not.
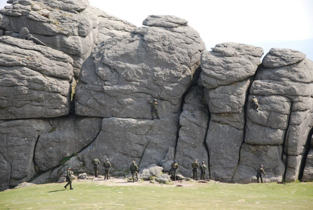
[(33, 155), (38, 136), (51, 128), (48, 121), (39, 119), (0, 121), (0, 190), (35, 175)]

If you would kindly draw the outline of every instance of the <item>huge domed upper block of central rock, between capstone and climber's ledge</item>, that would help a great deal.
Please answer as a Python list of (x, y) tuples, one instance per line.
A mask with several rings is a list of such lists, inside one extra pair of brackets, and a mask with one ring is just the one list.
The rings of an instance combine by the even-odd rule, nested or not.
[(177, 113), (204, 48), (198, 32), (187, 25), (139, 27), (108, 39), (82, 66), (75, 111), (84, 116), (149, 119), (150, 97), (158, 99), (161, 118)]

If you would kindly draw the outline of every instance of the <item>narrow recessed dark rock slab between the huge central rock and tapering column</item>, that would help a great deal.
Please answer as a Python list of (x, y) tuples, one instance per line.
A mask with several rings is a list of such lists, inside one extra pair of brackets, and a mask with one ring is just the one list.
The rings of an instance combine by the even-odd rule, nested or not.
[(191, 163), (197, 159), (199, 164), (204, 161), (208, 165), (208, 152), (205, 136), (208, 127), (208, 109), (203, 97), (203, 87), (194, 86), (184, 99), (182, 113), (179, 117), (179, 138), (176, 146), (175, 159), (180, 165), (183, 176), (191, 177)]

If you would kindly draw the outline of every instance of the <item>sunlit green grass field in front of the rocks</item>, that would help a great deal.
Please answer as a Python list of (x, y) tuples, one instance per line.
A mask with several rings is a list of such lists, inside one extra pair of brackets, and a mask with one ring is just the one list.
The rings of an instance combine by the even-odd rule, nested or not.
[[(65, 190), (64, 183), (35, 185), (0, 192), (0, 209), (312, 209), (313, 206), (312, 182), (179, 184), (183, 186), (148, 181), (142, 186), (81, 181), (73, 182), (74, 190)], [(26, 199), (59, 202), (12, 202)]]

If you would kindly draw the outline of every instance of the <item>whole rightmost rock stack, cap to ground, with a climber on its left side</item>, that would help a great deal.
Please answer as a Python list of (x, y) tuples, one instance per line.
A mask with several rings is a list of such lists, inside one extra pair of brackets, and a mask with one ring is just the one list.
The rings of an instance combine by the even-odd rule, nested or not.
[[(261, 164), (267, 181), (298, 179), (313, 126), (312, 70), (312, 61), (296, 50), (272, 48), (265, 55), (250, 88), (235, 181), (254, 181)], [(253, 96), (261, 107), (258, 113), (251, 108)]]

